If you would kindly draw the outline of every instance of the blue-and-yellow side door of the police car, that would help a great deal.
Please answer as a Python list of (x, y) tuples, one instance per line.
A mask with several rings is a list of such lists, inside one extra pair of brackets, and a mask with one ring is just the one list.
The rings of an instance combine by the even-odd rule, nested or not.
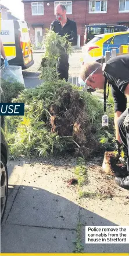
[(116, 49), (116, 53), (119, 53), (120, 46), (123, 46), (124, 51), (129, 46), (129, 34), (118, 34), (113, 37), (112, 41), (110, 41), (107, 46), (107, 51), (112, 51), (112, 49)]

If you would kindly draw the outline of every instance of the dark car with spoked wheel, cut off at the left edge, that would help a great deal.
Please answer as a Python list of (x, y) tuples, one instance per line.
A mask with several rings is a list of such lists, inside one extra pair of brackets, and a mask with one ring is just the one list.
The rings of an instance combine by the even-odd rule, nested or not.
[[(5, 102), (2, 88), (1, 89), (1, 103)], [(5, 213), (6, 201), (8, 196), (8, 142), (7, 142), (7, 120), (5, 116), (1, 116), (1, 222)]]

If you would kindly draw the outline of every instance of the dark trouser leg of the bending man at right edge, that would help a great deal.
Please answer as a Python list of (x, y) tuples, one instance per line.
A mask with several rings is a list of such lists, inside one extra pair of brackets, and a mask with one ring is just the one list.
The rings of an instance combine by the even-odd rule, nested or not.
[[(127, 152), (127, 171), (129, 172), (129, 156), (128, 156), (128, 152), (129, 152), (129, 133), (126, 132), (126, 129), (123, 126), (123, 122), (124, 119), (126, 118), (126, 116), (129, 114), (129, 109), (126, 109), (121, 116), (119, 117), (117, 124), (119, 126), (119, 134), (120, 134), (120, 139), (124, 145), (124, 151)], [(128, 122), (128, 126), (129, 126), (129, 122)]]

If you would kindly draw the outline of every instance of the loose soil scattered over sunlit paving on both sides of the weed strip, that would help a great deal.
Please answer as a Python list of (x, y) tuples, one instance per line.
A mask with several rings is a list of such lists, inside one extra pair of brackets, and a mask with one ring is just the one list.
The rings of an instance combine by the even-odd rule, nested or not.
[[(34, 162), (34, 160), (31, 161)], [(38, 161), (35, 161), (37, 163), (34, 162), (34, 169), (39, 169), (42, 165), (44, 166), (42, 174), (47, 174), (44, 178), (46, 179), (47, 177), (49, 182), (53, 182), (54, 179), (55, 185), (59, 187), (58, 192), (60, 196), (63, 196), (62, 193), (65, 193), (66, 190), (69, 189), (69, 191), (67, 191), (68, 198), (70, 194), (76, 193), (78, 201), (78, 177), (74, 174), (74, 168), (76, 166), (75, 158), (69, 155), (59, 158), (49, 157), (45, 159), (45, 161), (39, 160), (39, 166)], [(98, 206), (102, 202), (105, 202), (105, 200), (107, 200), (107, 205), (109, 204), (110, 207), (110, 200), (113, 198), (116, 198), (116, 201), (120, 198), (120, 203), (123, 203), (123, 205), (129, 204), (128, 191), (117, 186), (114, 182), (114, 177), (107, 175), (106, 172), (103, 171), (102, 162), (103, 155), (102, 157), (94, 157), (91, 161), (87, 160), (86, 162), (87, 174), (82, 189), (83, 192), (87, 192), (89, 195), (86, 199), (89, 200), (89, 202), (91, 202), (91, 200), (94, 202), (94, 205), (91, 205), (91, 210), (92, 207), (95, 207), (95, 205)], [(90, 193), (91, 195), (95, 194), (95, 196), (93, 198), (90, 197)], [(122, 201), (121, 198), (123, 198)]]

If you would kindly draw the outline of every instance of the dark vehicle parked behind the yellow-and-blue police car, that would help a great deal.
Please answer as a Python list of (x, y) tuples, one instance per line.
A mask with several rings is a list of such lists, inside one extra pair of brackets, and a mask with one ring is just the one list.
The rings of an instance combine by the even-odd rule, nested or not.
[(128, 27), (123, 25), (86, 25), (84, 44), (94, 38), (95, 34), (106, 34), (127, 31)]

